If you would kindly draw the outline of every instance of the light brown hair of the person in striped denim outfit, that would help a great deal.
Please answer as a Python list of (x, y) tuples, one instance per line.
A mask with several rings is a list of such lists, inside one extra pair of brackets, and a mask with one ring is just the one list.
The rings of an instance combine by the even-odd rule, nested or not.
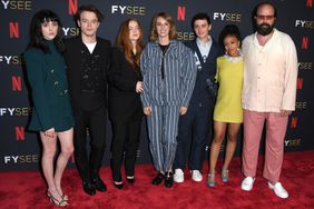
[(154, 17), (153, 21), (151, 21), (150, 40), (156, 41), (158, 39), (158, 33), (157, 33), (157, 28), (156, 28), (158, 18), (165, 19), (170, 24), (169, 39), (170, 40), (176, 39), (177, 38), (177, 30), (176, 30), (174, 19), (171, 18), (170, 14), (165, 13), (165, 12), (160, 12), (160, 13), (156, 14)]

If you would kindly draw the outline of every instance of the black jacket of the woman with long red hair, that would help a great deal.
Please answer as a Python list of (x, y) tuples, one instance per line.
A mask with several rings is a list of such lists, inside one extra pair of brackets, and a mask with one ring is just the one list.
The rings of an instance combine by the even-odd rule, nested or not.
[(133, 68), (125, 52), (114, 48), (109, 76), (109, 117), (111, 120), (137, 120), (143, 117), (140, 94), (136, 83), (141, 81), (139, 67)]

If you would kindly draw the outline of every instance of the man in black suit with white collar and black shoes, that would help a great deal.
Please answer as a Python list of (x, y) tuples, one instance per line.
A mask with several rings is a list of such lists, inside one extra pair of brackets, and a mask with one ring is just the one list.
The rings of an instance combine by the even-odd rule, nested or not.
[[(107, 71), (111, 58), (108, 40), (97, 37), (102, 14), (94, 6), (81, 6), (75, 20), (80, 36), (66, 41), (69, 90), (75, 116), (75, 159), (84, 191), (106, 191), (99, 177), (106, 143)], [(90, 150), (86, 149), (87, 128)], [(89, 153), (89, 155), (88, 155)]]

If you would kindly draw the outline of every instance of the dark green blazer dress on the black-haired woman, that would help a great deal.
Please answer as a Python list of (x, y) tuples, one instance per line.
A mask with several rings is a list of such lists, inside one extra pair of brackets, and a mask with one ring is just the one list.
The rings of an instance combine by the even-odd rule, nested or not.
[(24, 53), (33, 100), (33, 111), (28, 128), (35, 131), (50, 128), (65, 131), (73, 126), (66, 63), (53, 42), (48, 42), (48, 47), (51, 53), (43, 53), (33, 48)]

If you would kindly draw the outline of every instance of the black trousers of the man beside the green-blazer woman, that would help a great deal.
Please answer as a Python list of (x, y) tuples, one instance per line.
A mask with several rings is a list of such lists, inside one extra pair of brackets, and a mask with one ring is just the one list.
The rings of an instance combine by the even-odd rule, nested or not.
[[(99, 177), (106, 147), (107, 108), (92, 111), (75, 111), (75, 160), (82, 181), (90, 182)], [(90, 135), (90, 150), (87, 151), (87, 128)]]

